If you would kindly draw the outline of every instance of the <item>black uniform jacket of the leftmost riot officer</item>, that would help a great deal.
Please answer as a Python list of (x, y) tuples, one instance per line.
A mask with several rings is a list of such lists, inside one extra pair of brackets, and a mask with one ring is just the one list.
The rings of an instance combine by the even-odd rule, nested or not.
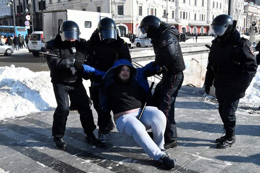
[(80, 42), (75, 41), (76, 53), (72, 53), (70, 48), (66, 48), (62, 42), (60, 35), (57, 35), (54, 40), (47, 42), (46, 51), (51, 54), (56, 54), (60, 57), (46, 56), (48, 66), (51, 70), (51, 82), (58, 84), (72, 84), (82, 82), (80, 73), (73, 74), (70, 67), (74, 61), (83, 63), (86, 57), (84, 49), (86, 40), (80, 39)]

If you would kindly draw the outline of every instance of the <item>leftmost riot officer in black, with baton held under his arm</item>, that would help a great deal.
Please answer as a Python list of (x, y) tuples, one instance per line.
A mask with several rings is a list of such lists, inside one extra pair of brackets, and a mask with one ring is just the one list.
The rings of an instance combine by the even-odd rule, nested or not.
[(97, 144), (94, 136), (94, 119), (88, 104), (86, 89), (82, 84), (82, 76), (73, 74), (71, 67), (80, 67), (85, 61), (86, 52), (84, 41), (79, 37), (80, 31), (77, 23), (65, 21), (60, 26), (60, 37), (47, 42), (47, 52), (55, 56), (47, 56), (47, 63), (51, 70), (51, 82), (57, 101), (57, 108), (53, 114), (52, 135), (57, 147), (65, 149), (67, 144), (63, 139), (67, 116), (69, 114), (69, 98), (76, 103), (81, 125), (86, 134), (86, 142)]

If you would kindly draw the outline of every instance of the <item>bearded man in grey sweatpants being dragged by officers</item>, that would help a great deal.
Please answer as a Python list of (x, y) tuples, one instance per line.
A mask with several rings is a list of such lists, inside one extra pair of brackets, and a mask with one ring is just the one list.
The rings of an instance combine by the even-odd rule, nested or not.
[[(103, 80), (99, 91), (100, 106), (104, 112), (112, 110), (118, 132), (132, 137), (154, 160), (174, 168), (176, 159), (171, 158), (164, 149), (166, 127), (164, 113), (157, 107), (146, 106), (138, 120), (147, 96), (152, 97), (147, 77), (156, 74), (158, 68), (152, 63), (142, 68), (135, 68), (128, 60), (119, 59), (107, 72), (88, 65), (77, 67), (77, 71), (101, 75)], [(150, 100), (148, 99), (147, 105), (151, 105)], [(148, 129), (152, 129), (154, 140), (148, 135), (146, 131)]]

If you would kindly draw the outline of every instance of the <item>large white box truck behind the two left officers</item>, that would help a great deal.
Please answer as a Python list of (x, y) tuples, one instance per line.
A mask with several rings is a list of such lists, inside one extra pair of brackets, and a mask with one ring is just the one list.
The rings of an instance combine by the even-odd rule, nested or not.
[[(110, 13), (88, 12), (79, 10), (54, 10), (43, 12), (43, 36), (44, 42), (53, 40), (59, 33), (60, 25), (66, 20), (72, 20), (79, 25), (80, 37), (89, 40), (92, 33), (97, 28), (99, 20), (111, 18)], [(120, 36), (120, 32), (118, 32)], [(129, 38), (121, 37), (131, 48)]]

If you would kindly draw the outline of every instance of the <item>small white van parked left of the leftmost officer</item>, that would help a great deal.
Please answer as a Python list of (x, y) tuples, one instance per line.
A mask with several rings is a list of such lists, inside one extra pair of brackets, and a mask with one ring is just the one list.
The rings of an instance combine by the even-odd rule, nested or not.
[(39, 56), (40, 51), (45, 51), (43, 31), (35, 31), (31, 33), (31, 37), (28, 42), (28, 50), (29, 52), (32, 52), (35, 57)]

